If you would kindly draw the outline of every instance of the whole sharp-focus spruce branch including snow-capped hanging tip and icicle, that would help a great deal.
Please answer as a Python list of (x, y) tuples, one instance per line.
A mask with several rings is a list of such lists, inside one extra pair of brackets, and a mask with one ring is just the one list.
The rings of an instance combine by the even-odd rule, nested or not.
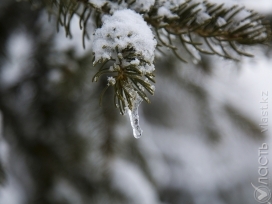
[[(211, 3), (207, 0), (27, 0), (54, 14), (57, 28), (63, 26), (72, 37), (70, 24), (77, 15), (82, 29), (82, 44), (89, 39), (88, 21), (95, 22), (92, 50), (93, 64), (100, 69), (96, 82), (106, 75), (114, 89), (114, 104), (121, 114), (134, 114), (134, 136), (141, 135), (137, 108), (142, 100), (150, 102), (154, 94), (154, 53), (163, 47), (172, 50), (181, 61), (187, 59), (183, 48), (194, 60), (200, 54), (217, 55), (238, 61), (253, 57), (245, 46), (268, 44), (271, 28), (263, 16), (239, 5)], [(140, 15), (141, 14), (141, 15)]]

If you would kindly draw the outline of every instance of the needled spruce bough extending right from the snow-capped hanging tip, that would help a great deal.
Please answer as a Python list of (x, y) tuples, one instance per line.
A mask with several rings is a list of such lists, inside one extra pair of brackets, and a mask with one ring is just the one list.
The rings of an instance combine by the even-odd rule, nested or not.
[[(268, 22), (258, 13), (238, 5), (228, 7), (195, 0), (175, 5), (157, 1), (146, 21), (154, 27), (159, 43), (182, 61), (186, 60), (177, 52), (180, 46), (194, 58), (190, 46), (203, 54), (238, 60), (236, 56), (253, 57), (241, 45), (267, 44), (271, 39)], [(177, 41), (171, 41), (171, 35), (179, 38), (178, 45)]]

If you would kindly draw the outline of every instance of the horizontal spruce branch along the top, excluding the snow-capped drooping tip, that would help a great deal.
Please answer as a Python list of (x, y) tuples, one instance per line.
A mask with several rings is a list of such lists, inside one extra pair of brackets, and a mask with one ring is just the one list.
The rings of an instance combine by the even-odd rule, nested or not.
[[(101, 27), (101, 18), (105, 14), (113, 14), (116, 10), (131, 9), (143, 13), (156, 34), (160, 45), (170, 48), (174, 54), (183, 59), (178, 47), (187, 51), (190, 45), (204, 54), (215, 54), (225, 58), (235, 59), (226, 49), (231, 49), (240, 55), (252, 57), (241, 50), (240, 45), (267, 44), (271, 39), (269, 22), (253, 10), (233, 5), (210, 3), (207, 0), (184, 0), (180, 4), (175, 1), (94, 1), (94, 0), (27, 0), (34, 7), (46, 7), (49, 16), (57, 17), (57, 27), (63, 26), (67, 36), (70, 31), (71, 19), (79, 16), (79, 26), (83, 30), (84, 39), (89, 38), (87, 21), (92, 19)], [(170, 35), (179, 38), (179, 45), (174, 45)], [(188, 39), (188, 37), (189, 39)], [(193, 37), (192, 37), (193, 36)], [(195, 41), (195, 38), (198, 41)], [(176, 41), (175, 41), (176, 43)], [(190, 51), (188, 51), (189, 54)]]

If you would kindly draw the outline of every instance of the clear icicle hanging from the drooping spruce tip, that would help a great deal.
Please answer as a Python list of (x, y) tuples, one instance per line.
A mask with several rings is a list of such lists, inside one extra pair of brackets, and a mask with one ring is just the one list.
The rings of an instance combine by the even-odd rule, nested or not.
[(138, 114), (138, 107), (142, 102), (142, 98), (137, 94), (135, 101), (133, 103), (132, 110), (128, 109), (128, 115), (131, 123), (131, 127), (133, 130), (133, 136), (138, 139), (142, 136), (143, 131), (139, 124), (139, 114)]

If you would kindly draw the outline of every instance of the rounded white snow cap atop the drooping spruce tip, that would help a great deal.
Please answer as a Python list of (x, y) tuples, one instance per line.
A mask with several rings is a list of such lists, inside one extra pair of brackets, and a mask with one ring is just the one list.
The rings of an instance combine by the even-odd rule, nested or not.
[[(118, 53), (126, 48), (133, 48), (148, 63), (152, 64), (156, 40), (151, 29), (141, 15), (126, 9), (114, 12), (112, 16), (104, 16), (103, 26), (96, 30), (93, 42), (95, 62), (106, 59), (118, 61)], [(154, 67), (145, 66), (150, 72)]]

